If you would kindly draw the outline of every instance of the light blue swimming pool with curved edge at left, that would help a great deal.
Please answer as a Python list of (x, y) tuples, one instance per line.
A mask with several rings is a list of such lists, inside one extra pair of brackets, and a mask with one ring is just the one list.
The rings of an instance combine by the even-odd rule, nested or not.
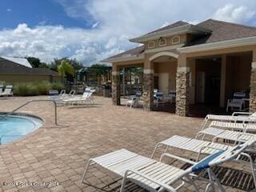
[(42, 119), (34, 115), (14, 114), (4, 117), (0, 114), (0, 144), (13, 142), (42, 126)]

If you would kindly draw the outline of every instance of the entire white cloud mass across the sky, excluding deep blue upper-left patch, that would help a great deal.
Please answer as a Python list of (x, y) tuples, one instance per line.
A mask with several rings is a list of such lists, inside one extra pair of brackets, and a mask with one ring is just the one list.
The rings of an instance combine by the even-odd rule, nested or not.
[(90, 29), (47, 26), (46, 23), (30, 28), (25, 23), (19, 24), (13, 30), (0, 30), (0, 55), (30, 55), (46, 62), (70, 57), (89, 65), (138, 46), (130, 43), (129, 38), (178, 20), (198, 23), (215, 18), (252, 24), (255, 14), (251, 7), (256, 7), (254, 0), (55, 1), (63, 6), (67, 15), (82, 19)]

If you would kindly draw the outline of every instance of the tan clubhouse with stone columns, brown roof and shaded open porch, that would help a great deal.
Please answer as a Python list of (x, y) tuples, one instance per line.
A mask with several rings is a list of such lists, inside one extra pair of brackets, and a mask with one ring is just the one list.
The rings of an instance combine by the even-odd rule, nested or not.
[(135, 64), (143, 67), (144, 110), (155, 110), (154, 89), (167, 96), (174, 91), (176, 102), (162, 110), (181, 116), (197, 116), (196, 109), (230, 113), (233, 106), (226, 106), (235, 93), (244, 94), (235, 110), (256, 110), (254, 28), (212, 19), (196, 26), (175, 22), (130, 42), (144, 45), (103, 60), (113, 66), (115, 105), (120, 105), (120, 69)]

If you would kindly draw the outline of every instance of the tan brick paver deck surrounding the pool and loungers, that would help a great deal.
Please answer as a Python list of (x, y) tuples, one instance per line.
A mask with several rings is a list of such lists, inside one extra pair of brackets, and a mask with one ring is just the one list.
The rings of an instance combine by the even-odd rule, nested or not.
[[(1, 99), (0, 108), (10, 111), (31, 99), (46, 97)], [(98, 191), (80, 184), (90, 157), (122, 148), (149, 157), (157, 142), (174, 134), (194, 137), (202, 123), (202, 118), (112, 106), (110, 98), (96, 97), (95, 103), (94, 107), (58, 107), (58, 123), (62, 126), (54, 126), (50, 103), (31, 103), (20, 110), (38, 115), (45, 122), (25, 138), (0, 146), (0, 191)], [(93, 167), (89, 181), (102, 186), (102, 182), (113, 181), (113, 175)], [(58, 182), (58, 186), (6, 186), (6, 182)], [(193, 188), (186, 185), (180, 191)]]

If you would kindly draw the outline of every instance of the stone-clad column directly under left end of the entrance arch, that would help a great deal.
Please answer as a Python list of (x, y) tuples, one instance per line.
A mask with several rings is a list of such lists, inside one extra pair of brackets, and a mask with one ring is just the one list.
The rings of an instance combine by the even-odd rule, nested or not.
[(154, 106), (154, 65), (150, 61), (144, 63), (143, 74), (143, 109), (153, 110)]

